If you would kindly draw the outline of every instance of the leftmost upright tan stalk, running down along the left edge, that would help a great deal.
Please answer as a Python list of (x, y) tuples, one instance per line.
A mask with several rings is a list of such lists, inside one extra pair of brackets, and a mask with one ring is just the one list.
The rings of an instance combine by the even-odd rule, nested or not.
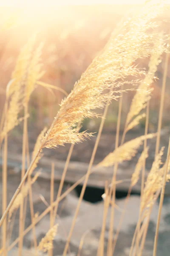
[[(8, 97), (6, 99), (5, 103), (5, 116), (7, 116), (7, 110), (8, 110)], [(2, 177), (2, 183), (3, 183), (3, 205), (2, 205), (2, 214), (4, 214), (6, 207), (7, 207), (7, 158), (8, 158), (8, 133), (7, 133), (7, 119), (5, 118), (5, 128), (6, 133), (4, 137), (4, 148), (3, 148), (3, 177)], [(7, 231), (7, 220), (3, 223), (3, 255), (7, 255), (6, 250), (6, 231)]]

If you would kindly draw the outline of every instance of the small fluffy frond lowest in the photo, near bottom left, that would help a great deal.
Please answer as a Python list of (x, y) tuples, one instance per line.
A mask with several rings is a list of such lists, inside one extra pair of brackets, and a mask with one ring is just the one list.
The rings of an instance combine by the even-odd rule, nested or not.
[(58, 225), (54, 225), (43, 237), (38, 245), (38, 250), (42, 252), (46, 252), (53, 248), (52, 241), (54, 240), (54, 237), (57, 234), (57, 227)]

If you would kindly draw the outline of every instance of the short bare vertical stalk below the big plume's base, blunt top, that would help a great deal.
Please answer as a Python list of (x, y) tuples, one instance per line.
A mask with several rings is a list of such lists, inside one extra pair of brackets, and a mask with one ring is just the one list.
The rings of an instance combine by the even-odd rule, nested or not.
[[(54, 162), (51, 163), (51, 185), (50, 185), (50, 205), (53, 204), (54, 202)], [(54, 226), (53, 222), (53, 207), (51, 207), (50, 211), (50, 228)], [(51, 248), (48, 250), (48, 255), (52, 256), (53, 255), (53, 249)]]

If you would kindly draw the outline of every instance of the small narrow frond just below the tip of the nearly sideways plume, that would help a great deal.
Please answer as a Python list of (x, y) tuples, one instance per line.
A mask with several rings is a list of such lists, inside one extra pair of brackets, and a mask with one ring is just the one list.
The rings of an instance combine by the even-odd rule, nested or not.
[(136, 164), (135, 171), (133, 172), (132, 178), (131, 178), (131, 186), (135, 186), (136, 183), (139, 180), (140, 171), (142, 170), (142, 166), (144, 163), (144, 160), (148, 157), (148, 147), (145, 148), (145, 150), (142, 152), (141, 156), (139, 157), (139, 160)]

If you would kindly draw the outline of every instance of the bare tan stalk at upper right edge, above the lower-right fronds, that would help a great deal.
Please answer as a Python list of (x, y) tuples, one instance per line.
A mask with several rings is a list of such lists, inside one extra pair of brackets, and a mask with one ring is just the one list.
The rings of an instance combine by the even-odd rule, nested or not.
[(170, 54), (167, 53), (166, 54), (166, 58), (165, 58), (165, 67), (164, 67), (162, 90), (161, 90), (161, 102), (160, 102), (160, 108), (159, 108), (159, 121), (158, 121), (158, 131), (157, 131), (158, 134), (157, 134), (157, 139), (156, 139), (155, 156), (158, 154), (159, 144), (160, 144), (162, 115), (163, 115), (163, 109), (164, 109), (164, 96), (165, 96), (165, 88), (166, 88), (169, 56), (170, 56)]

